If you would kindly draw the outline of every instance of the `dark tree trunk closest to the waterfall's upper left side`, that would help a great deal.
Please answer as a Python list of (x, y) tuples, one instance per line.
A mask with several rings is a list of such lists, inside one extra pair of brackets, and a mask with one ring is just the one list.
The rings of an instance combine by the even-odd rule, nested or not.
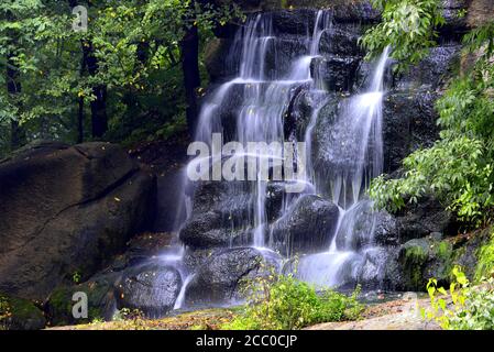
[[(194, 1), (191, 1), (190, 7), (195, 7)], [(190, 138), (194, 139), (198, 116), (197, 88), (200, 87), (199, 32), (197, 25), (193, 25), (186, 31), (180, 43), (182, 69), (184, 73), (184, 89), (187, 102), (187, 127)]]

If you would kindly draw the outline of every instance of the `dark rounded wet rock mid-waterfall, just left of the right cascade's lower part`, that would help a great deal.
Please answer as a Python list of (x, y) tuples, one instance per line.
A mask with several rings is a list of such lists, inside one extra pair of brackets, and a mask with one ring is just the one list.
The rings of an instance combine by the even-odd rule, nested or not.
[(303, 196), (273, 224), (270, 241), (284, 255), (329, 249), (339, 215), (339, 208), (331, 201)]

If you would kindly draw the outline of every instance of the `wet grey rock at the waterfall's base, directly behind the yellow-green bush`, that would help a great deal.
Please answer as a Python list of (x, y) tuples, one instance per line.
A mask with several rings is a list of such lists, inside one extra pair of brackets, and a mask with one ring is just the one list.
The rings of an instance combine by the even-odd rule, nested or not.
[(273, 252), (252, 248), (227, 249), (213, 253), (197, 270), (187, 286), (187, 306), (226, 304), (242, 299), (241, 288), (249, 279), (270, 275), (278, 268), (279, 257)]

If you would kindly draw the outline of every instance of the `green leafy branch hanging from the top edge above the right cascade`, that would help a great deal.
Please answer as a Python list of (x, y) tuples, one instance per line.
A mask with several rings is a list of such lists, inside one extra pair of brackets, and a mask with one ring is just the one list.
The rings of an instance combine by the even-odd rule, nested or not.
[(403, 70), (422, 59), (436, 44), (436, 28), (444, 23), (438, 0), (371, 0), (382, 10), (382, 22), (362, 37), (367, 57), (380, 55), (386, 46)]

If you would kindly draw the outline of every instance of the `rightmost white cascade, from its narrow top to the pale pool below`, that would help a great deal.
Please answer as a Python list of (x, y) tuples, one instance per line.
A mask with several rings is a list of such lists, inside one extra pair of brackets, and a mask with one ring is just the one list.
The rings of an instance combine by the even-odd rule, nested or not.
[[(382, 102), (387, 59), (388, 48), (377, 63), (369, 90), (342, 102), (333, 125), (330, 150), (334, 168), (325, 175), (329, 175), (340, 217), (329, 251), (301, 258), (298, 275), (305, 280), (330, 287), (355, 282), (365, 254), (373, 250), (376, 219), (364, 190), (383, 170)], [(359, 231), (362, 227), (364, 231)]]

